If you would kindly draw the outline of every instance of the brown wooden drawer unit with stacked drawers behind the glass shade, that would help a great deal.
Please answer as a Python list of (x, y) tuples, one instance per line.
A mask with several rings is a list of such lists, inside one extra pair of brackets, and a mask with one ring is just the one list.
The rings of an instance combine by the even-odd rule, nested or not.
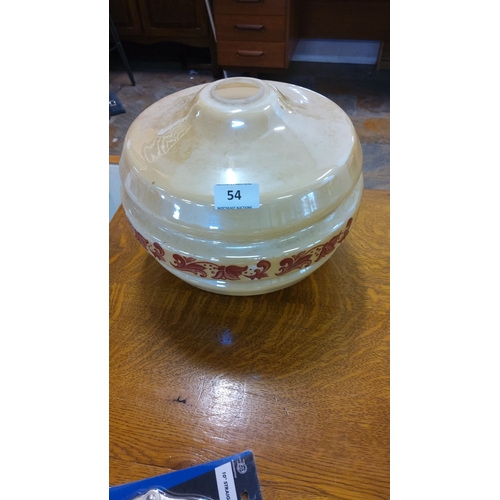
[(224, 68), (285, 69), (297, 43), (293, 0), (213, 0)]

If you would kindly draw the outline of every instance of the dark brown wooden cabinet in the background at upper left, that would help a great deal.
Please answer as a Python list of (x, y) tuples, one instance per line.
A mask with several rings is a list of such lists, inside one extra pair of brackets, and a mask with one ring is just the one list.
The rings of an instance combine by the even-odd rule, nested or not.
[(109, 0), (109, 13), (122, 40), (209, 48), (214, 76), (221, 76), (205, 0)]

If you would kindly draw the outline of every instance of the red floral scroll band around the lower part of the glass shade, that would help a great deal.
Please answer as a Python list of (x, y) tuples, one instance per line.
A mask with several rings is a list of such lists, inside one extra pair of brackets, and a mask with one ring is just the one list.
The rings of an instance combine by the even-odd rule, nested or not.
[[(298, 254), (292, 255), (280, 261), (279, 271), (274, 273), (275, 276), (283, 276), (292, 271), (299, 271), (309, 267), (313, 262), (319, 262), (327, 255), (331, 254), (347, 237), (352, 224), (352, 218), (348, 220), (343, 231), (334, 235), (329, 241), (321, 245), (316, 245), (309, 250), (304, 250)], [(133, 228), (135, 237), (139, 243), (156, 259), (163, 262), (165, 260), (165, 250), (158, 243), (150, 243), (142, 234)], [(194, 257), (185, 257), (177, 253), (172, 255), (173, 262), (169, 264), (183, 272), (192, 273), (200, 278), (209, 278), (214, 280), (235, 281), (247, 278), (250, 280), (260, 280), (269, 278), (267, 271), (271, 267), (271, 262), (261, 260), (255, 266), (236, 266), (236, 265), (219, 265), (215, 262), (197, 260)]]

